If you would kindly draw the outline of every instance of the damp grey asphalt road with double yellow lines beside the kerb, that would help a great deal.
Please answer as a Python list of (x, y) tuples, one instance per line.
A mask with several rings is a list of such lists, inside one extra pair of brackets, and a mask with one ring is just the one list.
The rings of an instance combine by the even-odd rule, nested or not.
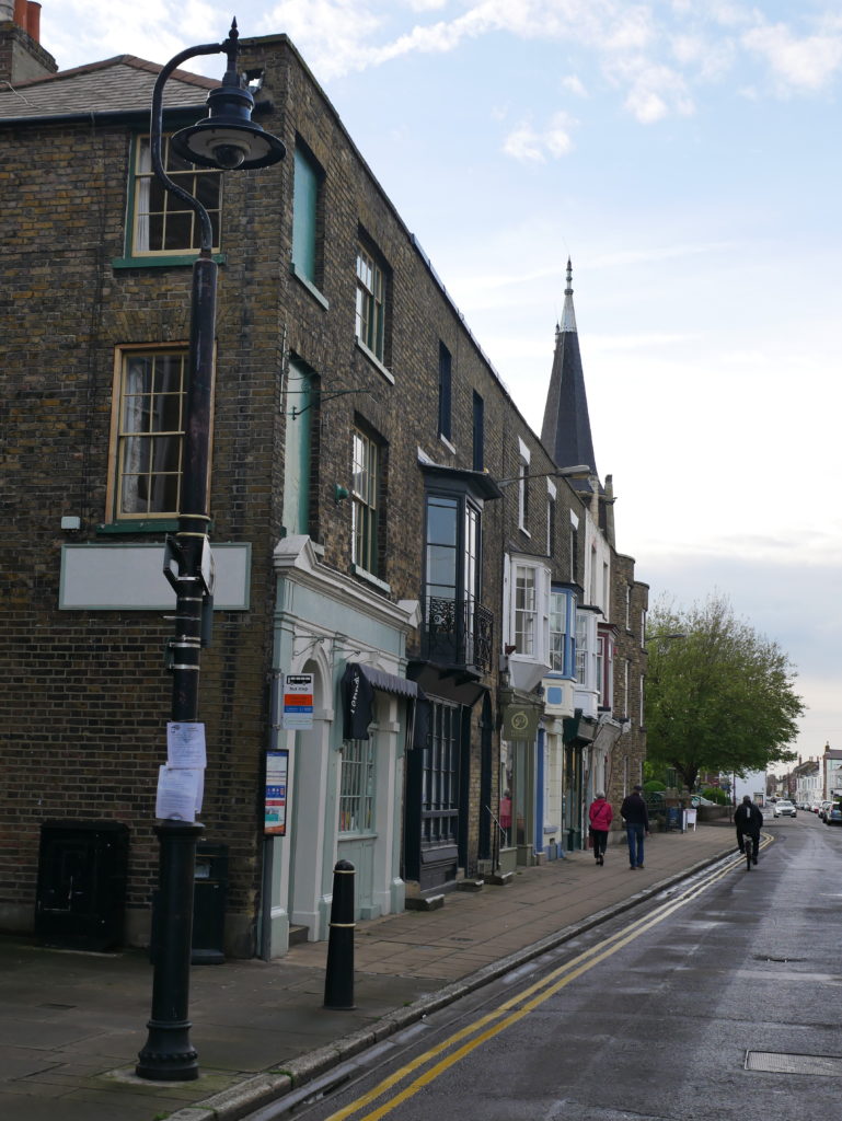
[(842, 828), (765, 832), (251, 1121), (838, 1117)]

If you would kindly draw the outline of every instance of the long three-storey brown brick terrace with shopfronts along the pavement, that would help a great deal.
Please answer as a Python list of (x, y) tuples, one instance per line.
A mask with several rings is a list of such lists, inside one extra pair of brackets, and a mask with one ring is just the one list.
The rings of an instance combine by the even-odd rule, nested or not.
[[(9, 7), (0, 926), (31, 928), (46, 823), (118, 823), (142, 945), (197, 242), (151, 174), (160, 67), (57, 71)], [(228, 854), (228, 952), (275, 956), (326, 937), (340, 858), (364, 919), (581, 845), (594, 786), (619, 798), (640, 773), (646, 585), (610, 480), (528, 428), (294, 46), (241, 47), (286, 159), (167, 166), (220, 262), (201, 819)], [(176, 72), (165, 130), (216, 84)], [(312, 726), (284, 726), (284, 675), (312, 675)]]

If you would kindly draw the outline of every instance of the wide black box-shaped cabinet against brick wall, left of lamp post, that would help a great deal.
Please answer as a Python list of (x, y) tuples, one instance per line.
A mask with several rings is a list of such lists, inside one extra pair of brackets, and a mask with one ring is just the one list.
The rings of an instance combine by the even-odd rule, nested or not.
[(121, 945), (128, 870), (129, 827), (122, 822), (44, 822), (36, 935), (70, 949)]

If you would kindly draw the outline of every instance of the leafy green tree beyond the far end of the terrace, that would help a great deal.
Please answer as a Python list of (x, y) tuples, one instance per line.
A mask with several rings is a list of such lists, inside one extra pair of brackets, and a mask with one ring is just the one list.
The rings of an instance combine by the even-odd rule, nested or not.
[(660, 600), (646, 648), (648, 761), (694, 789), (700, 772), (746, 775), (788, 762), (804, 702), (776, 642), (738, 619), (719, 593), (678, 609)]

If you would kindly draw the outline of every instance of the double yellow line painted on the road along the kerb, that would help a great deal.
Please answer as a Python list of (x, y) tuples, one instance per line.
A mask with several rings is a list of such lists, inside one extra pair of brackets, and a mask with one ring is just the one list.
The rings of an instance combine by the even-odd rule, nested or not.
[[(764, 841), (761, 843), (762, 847), (766, 847), (770, 843), (771, 837), (764, 835)], [(493, 1039), (494, 1036), (500, 1035), (501, 1031), (511, 1027), (512, 1023), (517, 1023), (518, 1020), (522, 1020), (525, 1016), (533, 1012), (536, 1008), (543, 1004), (545, 1000), (549, 1000), (550, 997), (554, 997), (555, 993), (568, 985), (571, 981), (575, 981), (576, 978), (586, 973), (589, 970), (592, 970), (594, 965), (599, 965), (600, 962), (604, 962), (605, 958), (611, 957), (619, 949), (622, 949), (623, 946), (633, 942), (635, 938), (638, 938), (641, 934), (651, 929), (651, 927), (657, 926), (659, 923), (669, 918), (669, 916), (677, 911), (681, 907), (684, 907), (693, 899), (696, 899), (703, 891), (706, 891), (710, 887), (723, 879), (723, 877), (728, 876), (734, 869), (742, 867), (743, 858), (742, 855), (739, 855), (734, 860), (730, 860), (723, 867), (707, 873), (681, 895), (676, 896), (675, 899), (670, 899), (667, 902), (661, 904), (651, 914), (637, 919), (622, 930), (618, 930), (616, 934), (610, 935), (604, 942), (600, 943), (599, 946), (592, 946), (590, 949), (583, 951), (583, 953), (579, 954), (576, 957), (565, 962), (564, 965), (559, 965), (558, 969), (553, 970), (546, 976), (536, 981), (535, 984), (529, 985), (529, 988), (521, 990), (515, 997), (509, 998), (509, 1000), (505, 1001), (493, 1011), (487, 1012), (484, 1016), (481, 1016), (466, 1027), (461, 1028), (452, 1036), (448, 1036), (441, 1044), (436, 1044), (435, 1047), (431, 1047), (429, 1050), (424, 1051), (423, 1055), (418, 1055), (394, 1074), (390, 1074), (388, 1078), (383, 1078), (383, 1081), (378, 1083), (373, 1090), (370, 1090), (367, 1094), (358, 1097), (344, 1109), (339, 1110), (339, 1112), (332, 1113), (330, 1118), (325, 1119), (325, 1121), (345, 1121), (346, 1118), (361, 1113), (362, 1110), (367, 1109), (379, 1097), (382, 1097), (390, 1090), (394, 1090), (400, 1083), (415, 1075), (414, 1080), (409, 1082), (408, 1085), (398, 1091), (397, 1094), (389, 1096), (370, 1113), (366, 1113), (364, 1117), (360, 1117), (358, 1121), (378, 1121), (379, 1118), (386, 1117), (387, 1113), (390, 1113), (394, 1109), (400, 1105), (401, 1102), (413, 1097), (420, 1090), (423, 1090), (424, 1086), (434, 1082), (437, 1077), (439, 1077), (439, 1075), (444, 1074), (445, 1071), (448, 1071), (452, 1066), (455, 1066), (456, 1063), (465, 1058), (465, 1056), (470, 1055), (471, 1051), (481, 1047), (482, 1044), (487, 1043), (489, 1039)], [(424, 1069), (425, 1067), (426, 1069)]]

